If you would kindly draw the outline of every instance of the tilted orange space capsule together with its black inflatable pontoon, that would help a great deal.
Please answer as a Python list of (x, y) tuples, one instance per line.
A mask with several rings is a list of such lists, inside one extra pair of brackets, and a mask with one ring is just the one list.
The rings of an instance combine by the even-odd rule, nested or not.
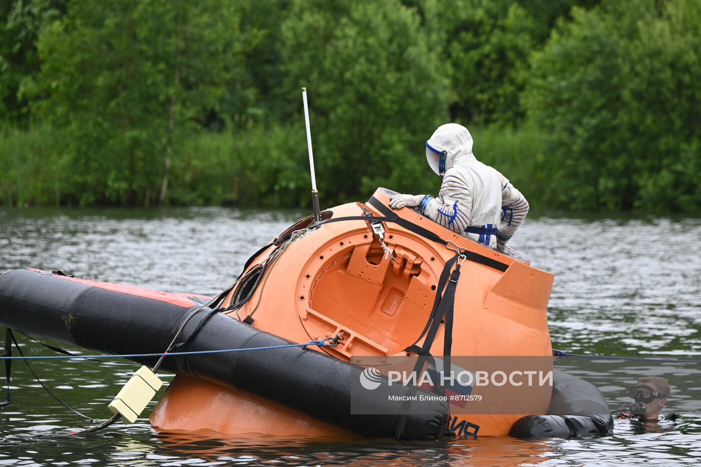
[(375, 402), (354, 412), (349, 381), (362, 382), (367, 359), (518, 356), (549, 359), (552, 370), (552, 274), (409, 208), (390, 210), (392, 194), (378, 189), (367, 203), (290, 226), (215, 299), (11, 271), (0, 277), (0, 322), (113, 354), (163, 352), (186, 317), (174, 352), (336, 342), (165, 358), (162, 369), (177, 376), (151, 414), (164, 431), (397, 440), (608, 433), (613, 421), (601, 393), (557, 372), (552, 388), (531, 396), (527, 413), (505, 413), (489, 398), (472, 400), (464, 413), (465, 405), (461, 412), (430, 397), (435, 388), (411, 384), (382, 384), (372, 394), (425, 396), (421, 413), (387, 413)]

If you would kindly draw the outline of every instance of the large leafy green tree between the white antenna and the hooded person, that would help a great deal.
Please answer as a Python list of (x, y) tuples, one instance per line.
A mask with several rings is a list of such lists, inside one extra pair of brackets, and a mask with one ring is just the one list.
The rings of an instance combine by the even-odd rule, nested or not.
[(397, 0), (296, 1), (282, 57), (287, 118), (304, 118), (301, 88), (310, 93), (325, 203), (379, 185), (435, 189), (423, 142), (446, 119), (447, 79), (414, 10)]

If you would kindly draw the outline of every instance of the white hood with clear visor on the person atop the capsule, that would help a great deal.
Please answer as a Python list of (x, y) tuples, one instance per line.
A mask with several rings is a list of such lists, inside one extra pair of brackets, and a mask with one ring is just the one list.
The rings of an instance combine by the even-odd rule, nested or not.
[(426, 142), (426, 161), (438, 175), (440, 173), (440, 156), (447, 152), (444, 170), (458, 163), (475, 161), (472, 154), (472, 135), (467, 128), (458, 123), (441, 125)]

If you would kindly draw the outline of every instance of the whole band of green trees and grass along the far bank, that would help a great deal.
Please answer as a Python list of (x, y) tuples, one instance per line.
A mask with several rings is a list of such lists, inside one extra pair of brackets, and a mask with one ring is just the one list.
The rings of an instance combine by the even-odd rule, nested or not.
[(463, 123), (540, 208), (701, 208), (695, 0), (10, 0), (0, 205), (435, 193)]

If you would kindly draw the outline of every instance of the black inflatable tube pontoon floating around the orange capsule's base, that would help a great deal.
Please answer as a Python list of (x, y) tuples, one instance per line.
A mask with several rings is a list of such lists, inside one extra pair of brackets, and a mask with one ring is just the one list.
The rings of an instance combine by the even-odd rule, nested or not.
[[(69, 278), (37, 269), (18, 269), (0, 276), (0, 323), (19, 332), (111, 354), (163, 352), (184, 317), (205, 303), (201, 297)], [(294, 343), (205, 308), (187, 322), (179, 344), (177, 351)], [(153, 366), (157, 358), (132, 360)], [(426, 415), (406, 419), (351, 414), (348, 381), (358, 381), (364, 368), (301, 347), (170, 356), (163, 360), (162, 368), (255, 393), (369, 438), (437, 440), (447, 424), (443, 402), (433, 403)], [(410, 391), (426, 392), (398, 385), (381, 385), (377, 391), (400, 397)], [(556, 370), (548, 414), (519, 419), (510, 435), (569, 438), (604, 435), (612, 427), (606, 400), (597, 388)]]

